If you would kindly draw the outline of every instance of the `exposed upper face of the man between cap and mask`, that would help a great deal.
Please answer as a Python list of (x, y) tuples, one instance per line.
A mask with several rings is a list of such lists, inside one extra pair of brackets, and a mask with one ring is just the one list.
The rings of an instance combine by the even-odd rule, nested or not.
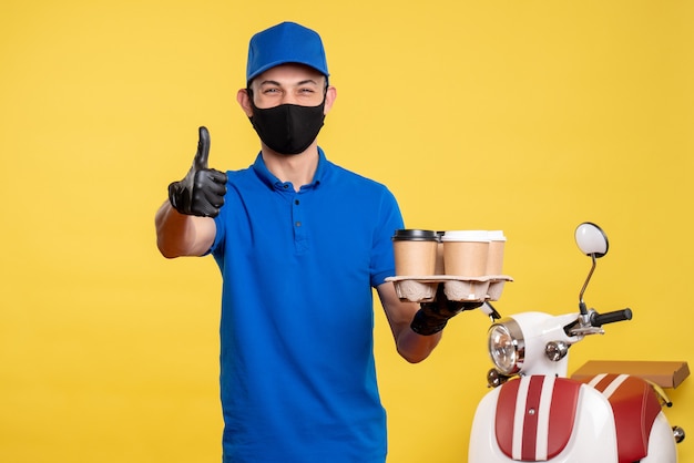
[(326, 76), (302, 64), (282, 64), (255, 78), (251, 90), (259, 109), (280, 104), (317, 106), (325, 96)]

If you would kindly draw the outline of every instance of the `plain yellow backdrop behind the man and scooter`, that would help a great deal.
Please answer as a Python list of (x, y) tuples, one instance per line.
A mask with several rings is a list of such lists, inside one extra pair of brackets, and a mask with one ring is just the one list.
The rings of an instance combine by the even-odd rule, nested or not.
[[(247, 40), (285, 19), (327, 48), (330, 160), (386, 183), (410, 227), (506, 232), (501, 312), (575, 310), (593, 220), (611, 248), (585, 299), (634, 319), (571, 370), (692, 363), (694, 3), (3, 0), (1, 462), (221, 460), (221, 278), (161, 257), (153, 216), (198, 125), (214, 167), (252, 163)], [(488, 320), (460, 316), (410, 366), (376, 310), (389, 461), (466, 461)], [(693, 389), (667, 411), (690, 433)]]

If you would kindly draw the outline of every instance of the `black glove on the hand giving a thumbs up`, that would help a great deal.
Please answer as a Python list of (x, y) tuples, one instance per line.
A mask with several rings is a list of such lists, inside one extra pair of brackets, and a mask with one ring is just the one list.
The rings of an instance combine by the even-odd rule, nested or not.
[(200, 127), (198, 135), (193, 166), (181, 182), (169, 185), (169, 200), (181, 214), (216, 217), (224, 205), (226, 174), (207, 168), (210, 132)]

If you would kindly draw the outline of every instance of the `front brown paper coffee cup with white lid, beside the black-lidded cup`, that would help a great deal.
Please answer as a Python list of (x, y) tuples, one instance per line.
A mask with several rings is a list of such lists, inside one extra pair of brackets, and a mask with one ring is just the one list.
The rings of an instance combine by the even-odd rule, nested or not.
[(446, 232), (441, 241), (446, 275), (460, 277), (487, 275), (490, 244), (487, 230)]

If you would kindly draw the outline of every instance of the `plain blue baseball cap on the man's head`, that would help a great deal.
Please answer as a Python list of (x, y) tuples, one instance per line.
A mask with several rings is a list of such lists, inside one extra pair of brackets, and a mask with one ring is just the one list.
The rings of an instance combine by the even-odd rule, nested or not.
[(282, 22), (251, 39), (246, 81), (286, 63), (305, 64), (329, 75), (320, 35), (296, 22)]

